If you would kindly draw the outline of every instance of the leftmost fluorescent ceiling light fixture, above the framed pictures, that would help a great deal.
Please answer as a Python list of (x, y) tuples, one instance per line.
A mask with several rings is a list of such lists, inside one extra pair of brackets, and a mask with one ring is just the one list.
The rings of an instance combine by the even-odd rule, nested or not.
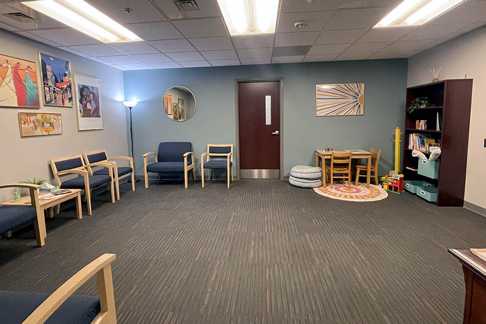
[(22, 4), (105, 43), (142, 40), (83, 0), (41, 0)]

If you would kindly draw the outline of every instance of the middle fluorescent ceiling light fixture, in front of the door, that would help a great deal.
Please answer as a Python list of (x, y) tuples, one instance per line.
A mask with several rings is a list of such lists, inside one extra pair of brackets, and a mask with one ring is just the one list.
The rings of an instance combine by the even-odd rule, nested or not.
[(278, 0), (218, 0), (231, 35), (275, 32)]

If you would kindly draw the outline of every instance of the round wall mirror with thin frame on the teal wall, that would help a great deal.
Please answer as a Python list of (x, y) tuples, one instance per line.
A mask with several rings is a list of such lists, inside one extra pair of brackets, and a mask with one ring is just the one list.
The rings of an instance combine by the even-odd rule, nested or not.
[(162, 107), (167, 117), (184, 121), (192, 117), (196, 110), (196, 98), (185, 86), (173, 86), (166, 91)]

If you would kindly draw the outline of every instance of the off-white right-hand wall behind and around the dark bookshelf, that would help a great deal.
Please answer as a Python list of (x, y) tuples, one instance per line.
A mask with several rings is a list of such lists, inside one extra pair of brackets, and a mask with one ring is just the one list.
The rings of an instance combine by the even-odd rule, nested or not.
[(439, 79), (474, 79), (467, 156), (465, 201), (486, 208), (486, 26), (409, 59), (408, 86), (431, 82), (429, 69), (442, 67)]

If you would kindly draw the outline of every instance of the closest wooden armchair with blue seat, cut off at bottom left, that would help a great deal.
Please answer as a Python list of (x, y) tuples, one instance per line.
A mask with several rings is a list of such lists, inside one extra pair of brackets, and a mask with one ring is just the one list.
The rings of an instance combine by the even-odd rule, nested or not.
[[(111, 262), (103, 254), (74, 274), (52, 295), (0, 291), (0, 322), (22, 324), (116, 324)], [(98, 298), (72, 295), (96, 274)], [(46, 299), (47, 298), (47, 299)]]

